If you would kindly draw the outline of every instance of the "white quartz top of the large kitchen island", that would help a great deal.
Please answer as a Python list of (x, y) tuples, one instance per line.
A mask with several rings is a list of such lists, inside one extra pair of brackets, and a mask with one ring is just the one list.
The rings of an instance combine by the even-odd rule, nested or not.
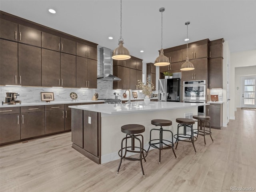
[(69, 106), (70, 108), (101, 112), (104, 114), (126, 114), (134, 112), (147, 112), (159, 110), (172, 110), (178, 108), (190, 108), (195, 106), (209, 105), (206, 103), (183, 103), (183, 102), (158, 102), (151, 101), (150, 104), (144, 104), (144, 101), (131, 102), (131, 104), (92, 104)]

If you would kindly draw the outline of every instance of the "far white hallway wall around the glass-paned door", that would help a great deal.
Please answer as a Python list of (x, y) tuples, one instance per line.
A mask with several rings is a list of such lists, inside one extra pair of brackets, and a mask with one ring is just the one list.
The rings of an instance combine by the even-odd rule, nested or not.
[(241, 106), (241, 78), (247, 76), (256, 76), (256, 65), (248, 67), (236, 67), (235, 68), (235, 106), (240, 108)]

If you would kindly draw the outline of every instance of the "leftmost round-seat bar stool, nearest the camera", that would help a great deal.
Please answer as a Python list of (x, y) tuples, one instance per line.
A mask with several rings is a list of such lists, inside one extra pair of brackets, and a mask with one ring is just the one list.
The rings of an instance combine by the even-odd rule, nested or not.
[[(118, 155), (120, 156), (120, 163), (117, 169), (116, 174), (118, 174), (122, 160), (130, 160), (130, 161), (140, 161), (140, 166), (142, 170), (142, 176), (145, 178), (143, 166), (142, 166), (142, 159), (146, 162), (146, 156), (147, 152), (143, 148), (143, 136), (142, 134), (145, 131), (145, 127), (143, 125), (138, 125), (138, 124), (128, 124), (124, 125), (121, 127), (121, 131), (126, 134), (126, 137), (122, 139), (121, 142), (121, 149), (118, 152)], [(135, 135), (138, 134), (138, 135)], [(141, 140), (138, 138), (141, 136)], [(131, 146), (127, 146), (127, 140), (131, 138)], [(135, 139), (138, 140), (140, 146), (135, 146)], [(125, 147), (123, 147), (123, 142), (125, 140)], [(139, 150), (135, 150), (135, 148), (138, 148)], [(123, 150), (124, 150), (124, 155), (123, 155)], [(127, 152), (132, 152), (132, 153), (139, 153), (140, 156), (139, 158), (133, 158), (133, 157), (126, 157)], [(145, 155), (144, 155), (145, 152)]]

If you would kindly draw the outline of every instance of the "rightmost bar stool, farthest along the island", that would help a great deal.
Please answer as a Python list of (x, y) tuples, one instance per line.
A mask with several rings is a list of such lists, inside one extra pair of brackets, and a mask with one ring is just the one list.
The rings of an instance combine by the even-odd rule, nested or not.
[[(193, 118), (196, 119), (197, 123), (197, 136), (198, 135), (202, 135), (204, 136), (204, 146), (206, 146), (206, 142), (205, 142), (205, 136), (206, 135), (210, 135), (211, 139), (212, 139), (212, 132), (211, 132), (211, 124), (210, 124), (210, 117), (209, 116), (205, 116), (205, 115), (193, 115)], [(205, 130), (205, 124), (209, 125), (209, 130)], [(200, 128), (200, 130), (199, 130)], [(213, 142), (213, 139), (212, 139)]]

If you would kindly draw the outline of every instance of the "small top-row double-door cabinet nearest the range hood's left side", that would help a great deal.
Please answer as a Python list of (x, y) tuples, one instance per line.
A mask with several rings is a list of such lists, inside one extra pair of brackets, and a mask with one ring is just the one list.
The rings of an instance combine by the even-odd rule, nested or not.
[(97, 60), (97, 48), (76, 42), (76, 55)]

